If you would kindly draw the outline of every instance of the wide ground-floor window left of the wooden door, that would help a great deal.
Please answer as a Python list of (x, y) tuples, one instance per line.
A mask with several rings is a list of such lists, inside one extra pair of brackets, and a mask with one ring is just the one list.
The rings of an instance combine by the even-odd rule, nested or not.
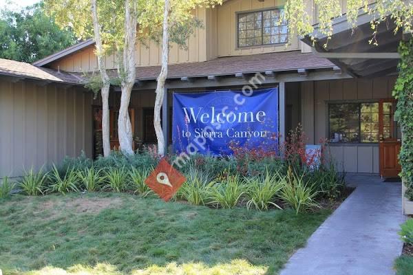
[(328, 135), (335, 142), (379, 142), (379, 103), (328, 104)]

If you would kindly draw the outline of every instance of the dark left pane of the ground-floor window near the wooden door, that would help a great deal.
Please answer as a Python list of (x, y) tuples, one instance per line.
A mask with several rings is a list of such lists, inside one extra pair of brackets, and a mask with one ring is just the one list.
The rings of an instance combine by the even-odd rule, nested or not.
[(359, 104), (329, 104), (330, 142), (359, 142)]

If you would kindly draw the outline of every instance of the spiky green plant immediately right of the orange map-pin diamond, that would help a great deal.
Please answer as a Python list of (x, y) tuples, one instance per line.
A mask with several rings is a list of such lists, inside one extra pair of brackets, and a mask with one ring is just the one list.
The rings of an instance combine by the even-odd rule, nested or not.
[(192, 170), (187, 181), (179, 189), (179, 197), (197, 206), (209, 203), (211, 192), (211, 176), (197, 170)]

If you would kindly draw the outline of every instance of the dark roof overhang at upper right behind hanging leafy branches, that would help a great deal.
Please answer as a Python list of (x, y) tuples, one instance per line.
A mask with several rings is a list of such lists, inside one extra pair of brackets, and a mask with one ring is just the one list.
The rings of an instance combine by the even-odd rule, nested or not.
[[(372, 6), (374, 8), (374, 6)], [(357, 28), (352, 30), (344, 15), (333, 22), (331, 39), (321, 34), (318, 25), (315, 25), (313, 36), (305, 36), (302, 41), (315, 48), (319, 57), (328, 58), (329, 61), (340, 67), (343, 72), (353, 77), (377, 77), (397, 74), (399, 54), (397, 48), (403, 39), (403, 32), (394, 32), (394, 21), (388, 20), (380, 23), (377, 33), (373, 36), (371, 21), (377, 14), (369, 14), (363, 9), (359, 10)], [(377, 41), (377, 45), (372, 43)], [(327, 47), (324, 47), (326, 45)]]

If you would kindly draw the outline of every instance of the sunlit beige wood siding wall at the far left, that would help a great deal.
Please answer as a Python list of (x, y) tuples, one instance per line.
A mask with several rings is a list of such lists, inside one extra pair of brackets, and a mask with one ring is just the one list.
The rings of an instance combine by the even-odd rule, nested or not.
[(92, 94), (0, 79), (0, 177), (92, 155)]

